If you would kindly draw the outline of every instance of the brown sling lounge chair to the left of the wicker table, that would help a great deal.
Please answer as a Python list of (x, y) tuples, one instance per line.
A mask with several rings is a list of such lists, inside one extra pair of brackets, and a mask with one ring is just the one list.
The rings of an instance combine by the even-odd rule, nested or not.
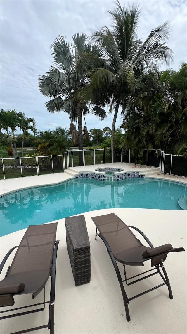
[[(42, 328), (50, 329), (54, 334), (54, 304), (55, 304), (55, 274), (56, 259), (59, 240), (56, 240), (57, 223), (30, 225), (25, 232), (19, 246), (15, 246), (7, 253), (0, 265), (0, 273), (9, 255), (18, 247), (12, 264), (8, 267), (5, 278), (0, 282), (0, 306), (13, 306), (13, 296), (31, 294), (34, 299), (44, 290), (44, 301), (42, 303), (18, 307), (0, 313), (11, 312), (9, 315), (1, 316), (0, 319), (7, 319), (29, 313), (43, 311), (45, 304), (49, 303), (48, 324), (29, 328), (12, 334), (27, 333)], [(45, 285), (51, 275), (50, 300), (45, 300)], [(22, 311), (12, 314), (12, 311), (20, 311), (28, 307), (39, 306), (31, 311)]]

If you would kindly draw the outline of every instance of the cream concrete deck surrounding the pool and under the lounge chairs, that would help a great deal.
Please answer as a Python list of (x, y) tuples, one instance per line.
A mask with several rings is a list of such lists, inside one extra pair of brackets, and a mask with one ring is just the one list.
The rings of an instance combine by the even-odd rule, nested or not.
[[(73, 167), (73, 169), (76, 169), (77, 172), (79, 170), (93, 171), (102, 167), (116, 167), (123, 168), (125, 171), (140, 172), (154, 169), (154, 167), (127, 163), (100, 164)], [(71, 170), (72, 168), (68, 173), (71, 174)], [(0, 195), (32, 186), (60, 183), (73, 177), (68, 173), (1, 180)], [(158, 170), (149, 177), (187, 184), (187, 178), (162, 174)], [(171, 243), (173, 247), (184, 247), (186, 250), (186, 252), (169, 254), (164, 262), (174, 299), (169, 299), (167, 287), (163, 286), (131, 301), (129, 304), (130, 322), (126, 322), (121, 291), (106, 248), (99, 238), (97, 241), (94, 240), (95, 226), (91, 217), (111, 212), (117, 214), (127, 225), (140, 228), (154, 246)], [(91, 282), (79, 287), (75, 287), (68, 257), (65, 219), (58, 220), (57, 238), (60, 239), (60, 243), (56, 271), (55, 333), (185, 334), (187, 332), (187, 210), (105, 209), (86, 212), (85, 219), (91, 243)], [(20, 243), (25, 230), (10, 233), (0, 238), (0, 262), (11, 247)], [(138, 238), (146, 244), (141, 236), (138, 235)], [(14, 254), (6, 262), (0, 279), (6, 274)], [(118, 265), (121, 275), (123, 275), (123, 266), (120, 263)], [(145, 264), (144, 268), (128, 266), (127, 275), (137, 275), (143, 270), (150, 269), (150, 265), (147, 265)], [(127, 296), (132, 297), (158, 285), (159, 282), (158, 275), (155, 275), (132, 286), (125, 285), (125, 290)], [(46, 286), (47, 296), (49, 295), (49, 283), (50, 279)], [(42, 302), (42, 296), (41, 293), (34, 302)], [(33, 301), (28, 295), (15, 297), (15, 307), (23, 305), (24, 302), (26, 305)], [(47, 323), (47, 319), (48, 306), (46, 306), (45, 311), (40, 313), (2, 320), (1, 334), (41, 326)], [(47, 334), (50, 332), (43, 329), (33, 333)]]

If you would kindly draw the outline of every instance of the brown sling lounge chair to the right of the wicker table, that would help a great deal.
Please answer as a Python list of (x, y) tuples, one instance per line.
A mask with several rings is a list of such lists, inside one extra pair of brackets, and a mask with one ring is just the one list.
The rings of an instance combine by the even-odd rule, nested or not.
[[(154, 247), (143, 232), (141, 232), (138, 228), (134, 226), (125, 225), (125, 223), (120, 218), (118, 218), (114, 213), (105, 214), (103, 216), (92, 217), (92, 220), (96, 225), (95, 240), (97, 235), (102, 239), (107, 248), (112, 264), (114, 266), (123, 296), (127, 321), (130, 321), (128, 304), (132, 299), (140, 297), (145, 293), (153, 291), (163, 285), (167, 285), (169, 291), (169, 298), (173, 299), (169, 279), (166, 270), (163, 266), (163, 262), (166, 260), (168, 253), (184, 251), (183, 247), (173, 248), (170, 243), (159, 247)], [(149, 246), (144, 246), (141, 243), (141, 241), (137, 239), (136, 236), (132, 233), (129, 227), (138, 231), (146, 240)], [(98, 234), (97, 234), (97, 229), (99, 231)], [(151, 260), (151, 267), (154, 267), (153, 269), (150, 269), (141, 274), (127, 278), (125, 265), (143, 266), (144, 265), (143, 263), (147, 260)], [(125, 275), (124, 280), (122, 280), (121, 278), (116, 261), (123, 264), (124, 275)], [(163, 274), (161, 273), (160, 268), (162, 269)], [(151, 274), (149, 273), (147, 276), (129, 282), (129, 280), (132, 280), (142, 274), (151, 271), (154, 272)], [(164, 283), (157, 285), (156, 287), (146, 290), (131, 298), (127, 297), (126, 292), (124, 290), (123, 282), (125, 282), (127, 285), (131, 285), (141, 280), (144, 280), (148, 277), (151, 277), (155, 274), (159, 274)]]

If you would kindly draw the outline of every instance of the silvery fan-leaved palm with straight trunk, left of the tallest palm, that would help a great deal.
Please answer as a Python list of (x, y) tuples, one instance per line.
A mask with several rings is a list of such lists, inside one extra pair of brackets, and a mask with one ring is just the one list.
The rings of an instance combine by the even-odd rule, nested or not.
[[(74, 45), (70, 45), (62, 35), (52, 43), (52, 56), (57, 67), (52, 66), (45, 75), (40, 75), (39, 89), (51, 99), (45, 104), (49, 112), (58, 113), (63, 110), (69, 114), (71, 121), (78, 120), (79, 149), (83, 150), (82, 114), (85, 116), (90, 110), (78, 94), (87, 82), (87, 69), (78, 66), (79, 53), (92, 52), (99, 57), (101, 52), (99, 46), (86, 43), (87, 35), (84, 33), (72, 38)], [(100, 119), (106, 117), (105, 111), (98, 106), (94, 106), (91, 111)], [(83, 165), (81, 153), (79, 165)]]

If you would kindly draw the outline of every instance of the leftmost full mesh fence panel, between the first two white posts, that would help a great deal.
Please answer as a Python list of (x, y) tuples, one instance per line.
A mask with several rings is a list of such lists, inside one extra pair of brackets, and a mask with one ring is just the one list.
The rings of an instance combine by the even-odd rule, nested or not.
[(20, 158), (3, 159), (5, 179), (21, 177)]

